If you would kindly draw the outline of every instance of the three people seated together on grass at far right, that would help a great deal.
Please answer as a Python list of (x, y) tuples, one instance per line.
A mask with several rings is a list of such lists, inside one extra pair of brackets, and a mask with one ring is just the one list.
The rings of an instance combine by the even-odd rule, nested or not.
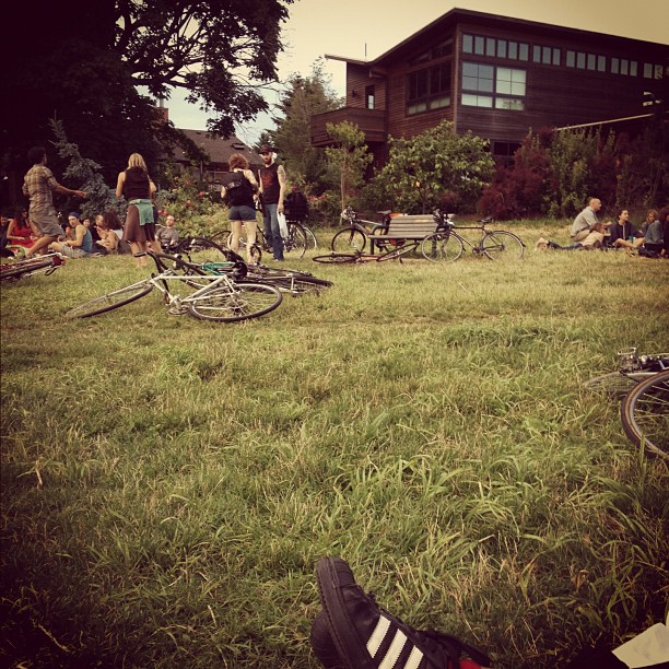
[(615, 222), (601, 223), (597, 212), (601, 202), (594, 198), (574, 219), (572, 225), (572, 244), (561, 246), (555, 242), (540, 237), (537, 250), (553, 248), (558, 250), (589, 250), (594, 248), (624, 248), (629, 254), (638, 254), (650, 258), (669, 258), (669, 207), (659, 212), (650, 209), (646, 220), (636, 228), (630, 222), (630, 212), (622, 209)]

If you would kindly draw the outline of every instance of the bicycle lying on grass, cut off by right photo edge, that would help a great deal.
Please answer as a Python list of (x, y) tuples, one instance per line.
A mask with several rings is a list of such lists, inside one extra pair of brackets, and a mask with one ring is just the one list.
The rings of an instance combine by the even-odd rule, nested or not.
[(669, 353), (619, 351), (620, 368), (586, 382), (588, 390), (622, 396), (620, 418), (630, 441), (669, 460)]

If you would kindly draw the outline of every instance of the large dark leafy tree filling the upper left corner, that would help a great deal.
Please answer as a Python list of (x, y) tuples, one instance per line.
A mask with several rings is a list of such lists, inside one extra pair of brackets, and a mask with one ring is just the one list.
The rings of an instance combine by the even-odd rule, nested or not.
[[(69, 0), (12, 5), (1, 78), (0, 156), (24, 159), (52, 139), (49, 120), (108, 175), (132, 151), (149, 160), (179, 139), (153, 101), (175, 90), (224, 137), (267, 109), (281, 23), (293, 0)], [(157, 143), (155, 142), (157, 140)], [(23, 165), (21, 165), (23, 166)]]

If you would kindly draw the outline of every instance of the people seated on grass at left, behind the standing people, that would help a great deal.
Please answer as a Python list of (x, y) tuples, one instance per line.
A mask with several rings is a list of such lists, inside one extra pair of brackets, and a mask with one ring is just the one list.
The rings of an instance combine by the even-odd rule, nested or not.
[[(62, 235), (48, 246), (49, 253), (68, 258), (86, 258), (94, 255), (129, 254), (130, 245), (122, 239), (124, 225), (116, 211), (109, 209), (97, 214), (93, 223), (72, 211), (63, 224)], [(20, 209), (13, 219), (2, 219), (2, 257), (21, 257), (39, 238), (39, 231), (28, 218), (27, 209)], [(174, 248), (179, 239), (175, 219), (168, 215), (165, 225), (157, 226), (156, 238), (163, 249)]]

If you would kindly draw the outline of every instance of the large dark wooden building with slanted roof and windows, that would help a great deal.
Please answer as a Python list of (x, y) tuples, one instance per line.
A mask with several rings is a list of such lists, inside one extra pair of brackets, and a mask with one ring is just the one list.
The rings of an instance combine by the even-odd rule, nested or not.
[(345, 107), (312, 117), (312, 144), (329, 145), (326, 124), (348, 120), (377, 165), (389, 136), (443, 120), (507, 160), (530, 129), (639, 117), (645, 94), (666, 109), (669, 93), (669, 45), (460, 9), (374, 60), (326, 58), (347, 63)]

